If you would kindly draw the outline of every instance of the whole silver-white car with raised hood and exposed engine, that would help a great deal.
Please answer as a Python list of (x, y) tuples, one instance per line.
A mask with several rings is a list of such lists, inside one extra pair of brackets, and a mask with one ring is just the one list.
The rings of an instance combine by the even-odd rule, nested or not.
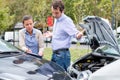
[[(115, 80), (113, 78), (103, 79), (102, 77), (105, 75), (104, 73), (102, 74), (102, 72), (105, 71), (107, 65), (120, 59), (120, 49), (118, 45), (120, 39), (117, 41), (112, 28), (100, 17), (88, 16), (84, 18), (84, 22), (85, 23), (80, 24), (80, 26), (86, 31), (92, 52), (71, 64), (68, 68), (69, 74), (74, 80), (88, 80), (89, 78), (90, 80)], [(102, 68), (104, 71), (102, 71)], [(100, 73), (99, 70), (101, 70)], [(108, 77), (110, 75), (109, 70), (107, 71)], [(100, 74), (100, 76), (98, 76), (98, 74)]]

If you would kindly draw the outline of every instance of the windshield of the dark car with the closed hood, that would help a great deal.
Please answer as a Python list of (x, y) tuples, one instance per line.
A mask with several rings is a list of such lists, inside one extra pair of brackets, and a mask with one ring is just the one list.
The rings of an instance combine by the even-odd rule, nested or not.
[(18, 52), (18, 51), (20, 50), (14, 47), (12, 44), (0, 39), (0, 52)]

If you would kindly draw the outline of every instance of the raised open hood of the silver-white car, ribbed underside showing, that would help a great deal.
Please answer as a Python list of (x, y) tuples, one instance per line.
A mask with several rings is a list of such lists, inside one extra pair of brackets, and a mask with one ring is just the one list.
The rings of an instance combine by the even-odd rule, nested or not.
[(85, 29), (92, 50), (107, 44), (120, 52), (113, 30), (106, 21), (97, 16), (85, 17), (83, 21), (85, 23), (80, 26)]

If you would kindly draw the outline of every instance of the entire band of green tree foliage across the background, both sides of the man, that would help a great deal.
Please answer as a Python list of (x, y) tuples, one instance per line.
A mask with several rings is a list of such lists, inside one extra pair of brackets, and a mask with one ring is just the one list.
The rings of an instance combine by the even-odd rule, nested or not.
[[(32, 15), (38, 23), (46, 26), (46, 18), (51, 16), (51, 2), (53, 0), (0, 0), (0, 24), (3, 30), (11, 29), (17, 22), (21, 22), (24, 15)], [(65, 14), (78, 24), (88, 15), (100, 16), (110, 21), (114, 16), (120, 21), (120, 0), (63, 0)], [(113, 9), (114, 8), (114, 9)], [(11, 24), (11, 25), (10, 25)], [(2, 30), (2, 31), (3, 31)]]

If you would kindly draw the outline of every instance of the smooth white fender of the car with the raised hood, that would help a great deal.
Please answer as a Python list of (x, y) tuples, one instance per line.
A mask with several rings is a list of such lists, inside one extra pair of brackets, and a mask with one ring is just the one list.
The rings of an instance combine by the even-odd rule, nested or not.
[(97, 70), (88, 80), (120, 80), (120, 59)]

